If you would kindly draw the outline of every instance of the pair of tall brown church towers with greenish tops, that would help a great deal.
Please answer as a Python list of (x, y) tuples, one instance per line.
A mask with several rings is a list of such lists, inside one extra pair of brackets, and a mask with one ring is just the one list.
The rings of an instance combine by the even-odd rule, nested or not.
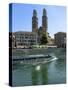
[[(37, 11), (33, 10), (33, 17), (32, 17), (32, 32), (38, 33), (38, 17), (37, 17)], [(47, 32), (47, 12), (45, 9), (43, 9), (43, 15), (42, 15), (42, 32)]]

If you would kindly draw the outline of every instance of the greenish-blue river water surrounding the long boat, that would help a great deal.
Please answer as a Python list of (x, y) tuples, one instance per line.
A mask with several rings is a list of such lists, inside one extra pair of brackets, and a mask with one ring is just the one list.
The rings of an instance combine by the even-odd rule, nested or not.
[(13, 50), (13, 55), (50, 54), (57, 59), (38, 65), (18, 63), (13, 65), (13, 86), (66, 83), (66, 50), (64, 48)]

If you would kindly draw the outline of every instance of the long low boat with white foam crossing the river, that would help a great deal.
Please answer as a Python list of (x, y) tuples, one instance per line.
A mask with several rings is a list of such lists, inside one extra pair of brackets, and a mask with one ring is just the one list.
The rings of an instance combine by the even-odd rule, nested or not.
[(24, 55), (24, 56), (13, 56), (12, 57), (12, 64), (20, 63), (20, 64), (41, 64), (46, 63), (49, 61), (56, 60), (57, 58), (55, 56), (51, 55)]

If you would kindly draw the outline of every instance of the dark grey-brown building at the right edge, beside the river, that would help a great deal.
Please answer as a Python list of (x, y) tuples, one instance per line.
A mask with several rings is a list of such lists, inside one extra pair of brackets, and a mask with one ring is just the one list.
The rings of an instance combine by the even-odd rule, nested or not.
[(65, 32), (58, 32), (54, 34), (55, 38), (55, 45), (57, 47), (66, 47), (66, 33)]

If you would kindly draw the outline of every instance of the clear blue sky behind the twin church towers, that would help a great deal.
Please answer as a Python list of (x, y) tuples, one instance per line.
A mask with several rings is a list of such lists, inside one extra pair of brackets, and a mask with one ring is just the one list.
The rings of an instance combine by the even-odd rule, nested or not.
[(42, 26), (43, 9), (47, 11), (47, 32), (51, 37), (57, 32), (66, 32), (66, 7), (39, 4), (12, 4), (12, 31), (32, 31), (33, 10), (36, 9), (38, 27)]

